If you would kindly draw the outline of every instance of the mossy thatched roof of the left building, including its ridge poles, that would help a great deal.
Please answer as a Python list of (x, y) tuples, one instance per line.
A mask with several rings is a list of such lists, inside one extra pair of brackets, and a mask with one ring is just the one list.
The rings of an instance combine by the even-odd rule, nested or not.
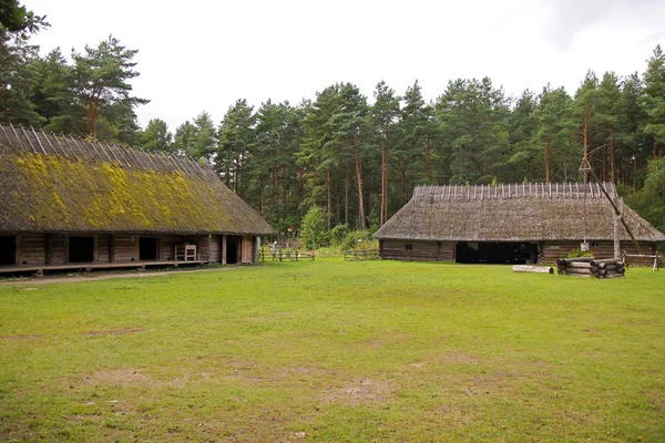
[(207, 164), (0, 125), (0, 231), (274, 230)]

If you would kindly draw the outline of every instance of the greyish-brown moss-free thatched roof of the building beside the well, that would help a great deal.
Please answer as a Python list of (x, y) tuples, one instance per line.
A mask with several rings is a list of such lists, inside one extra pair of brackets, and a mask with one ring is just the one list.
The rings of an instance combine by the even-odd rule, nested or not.
[[(614, 185), (604, 186), (614, 198)], [(587, 239), (611, 240), (613, 214), (597, 183), (587, 184), (586, 193), (580, 183), (419, 186), (376, 236), (452, 241), (580, 240), (586, 224)], [(625, 220), (638, 240), (665, 241), (665, 235), (627, 206)], [(621, 238), (630, 239), (623, 227), (621, 230)]]

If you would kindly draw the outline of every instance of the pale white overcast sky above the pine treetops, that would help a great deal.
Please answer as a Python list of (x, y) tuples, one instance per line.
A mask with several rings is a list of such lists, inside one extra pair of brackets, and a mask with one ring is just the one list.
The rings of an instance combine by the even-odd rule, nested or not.
[(380, 80), (426, 100), (449, 80), (489, 76), (511, 95), (551, 82), (573, 94), (589, 69), (646, 68), (665, 42), (662, 0), (23, 0), (51, 28), (42, 53), (82, 51), (110, 34), (130, 49), (151, 100), (140, 123), (171, 131), (207, 111), (215, 123), (237, 99), (315, 99), (336, 82), (371, 97)]

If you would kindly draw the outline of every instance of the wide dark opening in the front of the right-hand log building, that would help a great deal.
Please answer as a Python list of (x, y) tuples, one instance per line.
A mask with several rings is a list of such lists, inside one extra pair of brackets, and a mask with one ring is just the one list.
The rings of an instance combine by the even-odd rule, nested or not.
[(538, 261), (533, 243), (460, 241), (456, 257), (463, 264), (524, 265)]

